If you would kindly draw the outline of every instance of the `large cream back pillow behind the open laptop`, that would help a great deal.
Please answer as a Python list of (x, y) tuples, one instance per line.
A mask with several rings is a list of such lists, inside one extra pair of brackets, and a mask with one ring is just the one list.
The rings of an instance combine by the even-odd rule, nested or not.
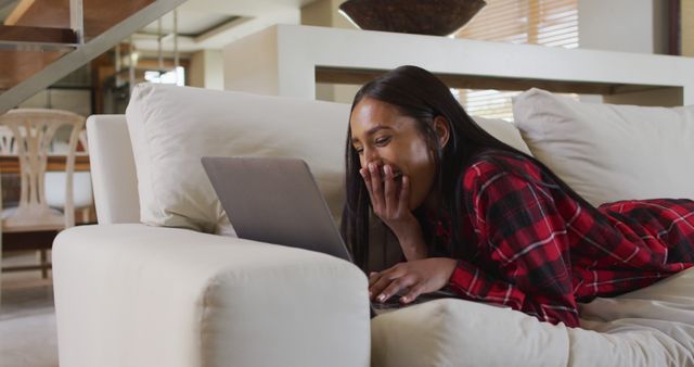
[(233, 235), (207, 155), (303, 159), (340, 214), (347, 104), (140, 84), (126, 118), (144, 224)]

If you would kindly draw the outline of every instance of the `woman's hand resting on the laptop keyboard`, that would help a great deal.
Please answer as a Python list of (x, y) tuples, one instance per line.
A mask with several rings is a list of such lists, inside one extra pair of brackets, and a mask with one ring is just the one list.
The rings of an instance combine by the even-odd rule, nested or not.
[(406, 292), (401, 303), (410, 303), (422, 293), (440, 290), (448, 284), (458, 261), (448, 257), (423, 258), (400, 263), (369, 276), (369, 295), (377, 302)]

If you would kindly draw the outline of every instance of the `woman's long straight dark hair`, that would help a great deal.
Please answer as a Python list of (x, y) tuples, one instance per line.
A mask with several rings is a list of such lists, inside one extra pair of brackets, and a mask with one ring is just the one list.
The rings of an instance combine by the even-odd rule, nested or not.
[[(414, 118), (417, 129), (426, 141), (427, 147), (434, 153), (436, 177), (433, 190), (435, 197), (440, 198), (439, 214), (447, 214), (451, 219), (451, 243), (447, 244), (448, 255), (460, 257), (464, 253), (462, 238), (463, 192), (460, 181), (465, 169), (473, 159), (485, 155), (493, 160), (494, 155), (523, 156), (537, 163), (561, 189), (588, 207), (593, 206), (576, 193), (562, 179), (556, 177), (542, 163), (528, 154), (500, 141), (467, 115), (463, 106), (455, 100), (450, 89), (436, 76), (417, 66), (400, 66), (388, 72), (361, 87), (355, 96), (351, 105), (355, 106), (364, 98), (371, 98), (396, 106), (399, 112)], [(445, 147), (439, 143), (438, 136), (433, 127), (433, 121), (442, 116), (449, 124), (450, 137)], [(351, 119), (351, 116), (350, 116)], [(487, 154), (494, 151), (493, 154)], [(359, 154), (351, 144), (351, 128), (347, 129), (347, 143), (345, 148), (346, 162), (346, 189), (347, 197), (342, 217), (342, 235), (352, 252), (357, 265), (364, 271), (369, 266), (369, 224), (371, 201), (369, 192), (359, 175), (361, 164)], [(500, 164), (505, 165), (501, 160)], [(507, 167), (513, 169), (513, 167)], [(442, 213), (447, 212), (447, 213)], [(597, 211), (595, 211), (597, 212)], [(415, 216), (424, 227), (426, 220), (422, 220), (421, 211), (415, 211)], [(383, 225), (385, 226), (385, 225)], [(389, 229), (386, 228), (387, 231)], [(423, 228), (425, 233), (432, 231)], [(426, 239), (427, 245), (432, 245), (432, 238)]]

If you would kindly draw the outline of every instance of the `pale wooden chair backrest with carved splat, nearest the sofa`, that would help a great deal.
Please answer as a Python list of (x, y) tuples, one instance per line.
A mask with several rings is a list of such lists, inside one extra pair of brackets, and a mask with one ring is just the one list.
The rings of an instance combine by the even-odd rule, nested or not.
[[(3, 227), (35, 227), (75, 225), (73, 202), (73, 172), (75, 151), (79, 134), (85, 126), (85, 117), (60, 110), (18, 109), (0, 116), (0, 126), (12, 131), (13, 141), (9, 153), (16, 152), (20, 161), (21, 193), (16, 212), (3, 223)], [(55, 215), (47, 204), (44, 177), (48, 155), (55, 131), (62, 126), (70, 126), (65, 167), (64, 215)], [(7, 142), (7, 141), (5, 141)], [(4, 144), (7, 148), (8, 144)]]

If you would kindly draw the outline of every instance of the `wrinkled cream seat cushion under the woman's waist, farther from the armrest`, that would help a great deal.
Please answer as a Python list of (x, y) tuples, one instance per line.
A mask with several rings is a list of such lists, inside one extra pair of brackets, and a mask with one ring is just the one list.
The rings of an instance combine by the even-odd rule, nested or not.
[(694, 366), (693, 305), (694, 268), (582, 304), (569, 366)]

